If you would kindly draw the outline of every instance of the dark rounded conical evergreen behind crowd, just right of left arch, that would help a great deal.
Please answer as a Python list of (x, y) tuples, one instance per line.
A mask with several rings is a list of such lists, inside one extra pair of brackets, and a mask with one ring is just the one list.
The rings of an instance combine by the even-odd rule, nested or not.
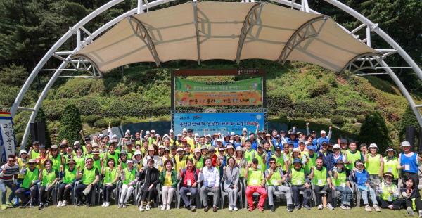
[(58, 141), (67, 139), (69, 143), (80, 139), (82, 129), (81, 114), (75, 105), (67, 105), (63, 111), (58, 130)]

